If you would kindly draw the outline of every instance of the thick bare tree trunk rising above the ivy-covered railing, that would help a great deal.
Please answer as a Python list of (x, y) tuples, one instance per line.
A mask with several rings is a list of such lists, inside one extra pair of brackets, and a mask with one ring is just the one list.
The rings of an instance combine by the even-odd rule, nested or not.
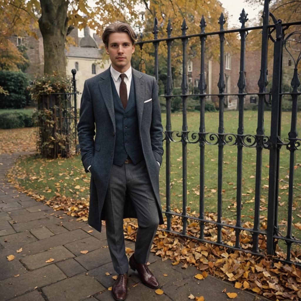
[(44, 45), (44, 73), (66, 76), (64, 53), (68, 29), (69, 0), (40, 0), (42, 15), (39, 28)]

